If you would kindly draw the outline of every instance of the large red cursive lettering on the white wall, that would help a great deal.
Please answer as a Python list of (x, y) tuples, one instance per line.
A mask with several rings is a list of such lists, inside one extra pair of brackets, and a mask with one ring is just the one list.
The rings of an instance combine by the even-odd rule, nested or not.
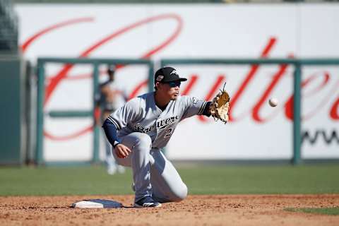
[[(139, 22), (133, 23), (131, 25), (127, 25), (125, 28), (121, 28), (120, 30), (117, 30), (116, 32), (113, 32), (111, 35), (108, 35), (107, 37), (103, 38), (102, 40), (99, 40), (95, 42), (95, 44), (90, 45), (87, 49), (85, 49), (78, 57), (88, 57), (90, 56), (90, 53), (95, 51), (98, 47), (101, 47), (104, 44), (107, 44), (108, 42), (114, 40), (115, 37), (118, 37), (120, 35), (123, 35), (126, 32), (129, 32), (130, 30), (133, 30), (133, 28), (137, 28), (138, 26), (145, 25), (147, 23), (152, 23), (153, 21), (157, 20), (175, 20), (177, 22), (177, 28), (174, 30), (172, 35), (167, 37), (166, 40), (164, 40), (161, 44), (157, 45), (156, 47), (153, 47), (153, 49), (150, 49), (148, 52), (145, 54), (142, 54), (141, 58), (143, 59), (148, 59), (149, 57), (153, 56), (157, 52), (160, 52), (162, 49), (167, 47), (170, 43), (172, 43), (179, 35), (179, 33), (182, 30), (182, 19), (175, 15), (175, 14), (165, 14), (165, 15), (160, 15), (160, 16), (155, 16), (151, 18), (145, 18), (144, 20), (141, 20)], [(35, 35), (32, 35), (32, 37), (28, 38), (25, 42), (23, 42), (21, 48), (23, 49), (23, 52), (27, 52), (30, 44), (33, 42), (37, 42), (41, 37), (46, 35), (49, 32), (52, 32), (56, 29), (61, 29), (69, 25), (76, 25), (78, 23), (91, 23), (94, 21), (94, 18), (76, 18), (73, 20), (68, 20), (64, 21), (61, 23), (57, 23), (56, 25), (52, 25), (49, 28), (45, 28), (44, 30), (37, 32)], [(263, 51), (259, 55), (261, 58), (267, 58), (269, 57), (270, 52), (273, 50), (273, 47), (277, 43), (276, 37), (270, 37), (268, 39), (267, 44), (263, 47)], [(290, 54), (289, 57), (292, 57), (292, 54)], [(82, 75), (78, 77), (68, 77), (69, 76), (69, 71), (72, 69), (73, 65), (72, 64), (66, 64), (61, 71), (59, 71), (55, 76), (50, 78), (49, 83), (46, 88), (46, 96), (44, 99), (44, 105), (47, 104), (47, 102), (50, 100), (52, 97), (52, 94), (54, 93), (54, 90), (57, 88), (59, 83), (66, 79), (66, 78), (72, 78), (72, 79), (79, 79), (79, 78), (89, 78), (90, 75)], [(119, 69), (121, 69), (123, 66), (119, 66)], [(290, 95), (289, 98), (285, 101), (284, 105), (280, 105), (282, 107), (276, 108), (275, 112), (270, 114), (268, 117), (263, 117), (261, 115), (261, 109), (264, 106), (264, 103), (267, 102), (270, 93), (274, 90), (274, 88), (278, 85), (278, 83), (281, 81), (281, 79), (287, 75), (287, 68), (288, 66), (285, 64), (282, 64), (279, 66), (278, 71), (272, 76), (272, 81), (267, 85), (266, 89), (263, 91), (263, 94), (261, 97), (256, 101), (254, 100), (254, 106), (248, 106), (248, 109), (245, 109), (244, 112), (235, 115), (234, 114), (234, 109), (237, 108), (239, 105), (239, 100), (241, 100), (241, 97), (244, 95), (244, 91), (246, 88), (248, 88), (249, 84), (256, 78), (256, 75), (258, 73), (258, 70), (260, 69), (260, 65), (251, 65), (249, 72), (244, 76), (243, 81), (240, 83), (239, 87), (237, 90), (234, 92), (234, 95), (232, 95), (232, 101), (231, 101), (231, 111), (230, 111), (230, 122), (234, 123), (236, 121), (239, 121), (246, 117), (246, 115), (251, 114), (251, 117), (254, 121), (258, 123), (265, 123), (266, 121), (269, 121), (272, 119), (276, 113), (279, 110), (285, 109), (285, 117), (287, 119), (292, 120), (293, 119), (293, 97), (292, 94)], [(311, 97), (316, 95), (320, 90), (323, 90), (327, 85), (329, 85), (329, 81), (331, 76), (329, 75), (328, 72), (323, 72), (323, 73), (316, 73), (312, 75), (311, 77), (307, 78), (305, 81), (302, 82), (302, 89), (307, 88), (308, 85), (311, 85), (311, 83), (315, 83), (317, 77), (321, 77), (323, 79), (323, 82), (319, 84), (316, 88), (311, 90), (309, 94), (304, 94), (303, 98), (306, 97)], [(197, 84), (197, 81), (199, 79), (199, 76), (197, 74), (191, 75), (189, 78), (188, 83), (186, 83), (184, 90), (182, 90), (182, 95), (189, 95), (191, 92), (192, 88), (194, 88), (194, 85)], [(208, 91), (207, 95), (204, 97), (205, 100), (210, 100), (215, 93), (218, 92), (218, 89), (222, 85), (222, 83), (225, 81), (225, 75), (220, 74), (213, 85), (211, 86), (210, 90)], [(139, 84), (136, 84), (135, 88), (131, 90), (131, 93), (129, 94), (129, 99), (136, 97), (140, 93), (140, 90), (142, 88), (145, 88), (147, 86), (147, 81), (142, 81)], [(334, 87), (331, 89), (331, 93), (328, 95), (333, 95), (335, 90), (338, 90), (338, 82), (335, 83)], [(327, 102), (329, 98), (324, 97), (323, 100), (319, 103), (319, 105), (314, 106), (314, 109), (311, 109), (309, 112), (303, 112), (303, 119), (309, 119), (311, 118), (314, 114), (316, 114), (317, 109), (319, 107), (323, 107)], [(280, 100), (281, 101), (281, 100)], [(331, 105), (331, 109), (329, 109), (329, 117), (333, 120), (338, 120), (339, 119), (339, 112), (338, 112), (338, 107), (339, 107), (339, 97), (333, 102), (333, 105)], [(206, 122), (206, 118), (204, 117), (198, 117), (199, 121)], [(77, 131), (76, 133), (69, 134), (66, 136), (54, 136), (48, 131), (44, 131), (45, 136), (48, 138), (54, 139), (54, 140), (69, 140), (71, 138), (76, 138), (78, 136), (81, 136), (85, 133), (88, 133), (89, 131), (93, 130), (93, 126), (90, 125), (81, 131)]]

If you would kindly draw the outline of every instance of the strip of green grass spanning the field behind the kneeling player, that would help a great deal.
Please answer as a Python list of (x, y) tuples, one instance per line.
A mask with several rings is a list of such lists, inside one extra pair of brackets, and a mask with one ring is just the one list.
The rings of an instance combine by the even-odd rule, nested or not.
[[(339, 194), (339, 165), (177, 167), (189, 194)], [(131, 169), (0, 167), (0, 196), (132, 194)]]

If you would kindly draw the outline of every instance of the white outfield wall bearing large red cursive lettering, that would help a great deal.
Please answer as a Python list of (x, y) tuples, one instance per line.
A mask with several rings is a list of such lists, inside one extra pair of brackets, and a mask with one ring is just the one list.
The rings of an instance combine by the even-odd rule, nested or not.
[[(73, 5), (18, 4), (26, 59), (338, 57), (339, 4)], [(44, 18), (42, 20), (42, 18)], [(194, 117), (170, 141), (172, 159), (281, 159), (292, 157), (290, 66), (177, 65), (189, 78), (182, 92), (210, 99), (227, 81), (232, 121)], [(102, 66), (102, 71), (105, 66)], [(90, 66), (47, 66), (44, 111), (93, 107)], [(117, 71), (125, 95), (147, 90), (147, 69)], [(339, 157), (338, 66), (305, 66), (302, 74), (302, 157)], [(102, 76), (102, 79), (103, 76)], [(280, 105), (268, 106), (269, 97)], [(45, 117), (46, 160), (90, 160), (87, 119)]]

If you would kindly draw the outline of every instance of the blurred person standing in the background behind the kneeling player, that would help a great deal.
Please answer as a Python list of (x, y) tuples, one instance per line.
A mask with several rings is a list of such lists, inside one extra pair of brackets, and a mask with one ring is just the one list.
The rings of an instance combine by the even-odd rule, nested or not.
[[(100, 108), (100, 120), (97, 121), (97, 124), (102, 124), (109, 114), (119, 107), (119, 102), (117, 99), (121, 96), (121, 92), (117, 88), (117, 83), (114, 82), (114, 73), (115, 65), (108, 65), (107, 67), (107, 76), (108, 80), (100, 83), (100, 95), (97, 97), (97, 107)], [(121, 165), (117, 165), (113, 155), (112, 155), (112, 145), (105, 139), (105, 163), (107, 166), (108, 174), (115, 174), (116, 172), (124, 173), (125, 168)]]

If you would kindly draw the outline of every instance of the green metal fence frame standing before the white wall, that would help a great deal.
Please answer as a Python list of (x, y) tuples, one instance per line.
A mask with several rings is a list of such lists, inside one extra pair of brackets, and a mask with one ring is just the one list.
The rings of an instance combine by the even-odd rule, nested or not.
[[(153, 90), (154, 79), (154, 62), (145, 59), (77, 59), (77, 58), (42, 58), (37, 61), (38, 72), (38, 97), (37, 97), (37, 151), (36, 162), (38, 164), (45, 163), (43, 157), (43, 138), (44, 138), (44, 66), (48, 63), (61, 64), (92, 64), (93, 65), (93, 102), (95, 95), (98, 92), (98, 75), (100, 64), (145, 64), (148, 65), (148, 89)], [(302, 131), (301, 131), (301, 83), (302, 83), (302, 67), (303, 66), (339, 66), (339, 59), (162, 59), (161, 66), (165, 65), (282, 65), (288, 64), (294, 67), (293, 73), (293, 125), (292, 125), (292, 148), (293, 155), (291, 162), (298, 165), (302, 162), (301, 145), (302, 145)], [(95, 106), (95, 104), (93, 104)], [(93, 117), (94, 108), (92, 110), (66, 110), (66, 111), (51, 111), (47, 112), (50, 117)], [(96, 126), (97, 127), (97, 126)], [(99, 128), (94, 128), (93, 136), (93, 160), (98, 162), (98, 146), (99, 146)]]

